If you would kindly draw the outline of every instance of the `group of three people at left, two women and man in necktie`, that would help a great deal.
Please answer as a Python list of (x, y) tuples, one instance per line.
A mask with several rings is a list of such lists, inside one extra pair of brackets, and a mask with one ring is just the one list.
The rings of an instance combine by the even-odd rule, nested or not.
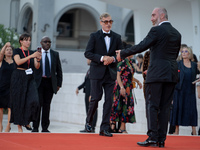
[(51, 40), (47, 36), (41, 39), (42, 47), (35, 51), (29, 50), (30, 34), (22, 34), (19, 43), (20, 48), (13, 49), (7, 42), (0, 52), (0, 132), (3, 108), (8, 109), (5, 132), (10, 132), (10, 123), (18, 126), (18, 132), (23, 132), (22, 127), (39, 132), (41, 110), (41, 132), (50, 132), (51, 100), (62, 85), (59, 53), (50, 49)]

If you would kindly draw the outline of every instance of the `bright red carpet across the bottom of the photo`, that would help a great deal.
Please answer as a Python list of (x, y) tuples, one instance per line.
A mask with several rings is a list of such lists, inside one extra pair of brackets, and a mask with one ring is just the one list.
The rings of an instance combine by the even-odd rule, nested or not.
[[(146, 135), (102, 137), (98, 134), (0, 133), (1, 150), (151, 150), (136, 143)], [(160, 148), (156, 148), (160, 149)], [(163, 148), (162, 148), (163, 149)], [(199, 136), (168, 136), (167, 150), (200, 150)]]

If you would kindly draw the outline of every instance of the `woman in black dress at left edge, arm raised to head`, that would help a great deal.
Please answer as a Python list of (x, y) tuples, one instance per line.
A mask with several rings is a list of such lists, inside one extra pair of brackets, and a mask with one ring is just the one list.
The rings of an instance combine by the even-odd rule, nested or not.
[(13, 49), (7, 42), (0, 52), (0, 132), (3, 131), (3, 109), (8, 108), (8, 124), (5, 132), (10, 131), (10, 78), (14, 70)]

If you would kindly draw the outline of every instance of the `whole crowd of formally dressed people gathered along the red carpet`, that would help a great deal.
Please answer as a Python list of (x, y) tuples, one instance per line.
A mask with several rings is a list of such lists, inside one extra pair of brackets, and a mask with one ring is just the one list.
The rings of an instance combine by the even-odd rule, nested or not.
[[(137, 84), (140, 89), (144, 87), (148, 135), (138, 145), (165, 146), (171, 104), (170, 124), (175, 127), (174, 134), (179, 134), (179, 126), (191, 126), (191, 134), (196, 135), (194, 81), (200, 63), (190, 47), (181, 46), (181, 34), (168, 21), (165, 8), (155, 8), (151, 21), (153, 27), (144, 40), (138, 45), (125, 46), (121, 36), (111, 30), (111, 15), (100, 16), (102, 29), (90, 35), (84, 53), (90, 67), (84, 82), (76, 89), (77, 95), (82, 88), (85, 92), (87, 117), (80, 132), (95, 132), (98, 102), (104, 94), (99, 135), (112, 137), (112, 133), (128, 133), (126, 123), (136, 122), (133, 89)], [(9, 116), (5, 132), (11, 130), (10, 123), (18, 125), (18, 132), (23, 132), (22, 127), (39, 132), (40, 118), (41, 132), (50, 132), (51, 100), (62, 86), (59, 53), (51, 49), (51, 39), (47, 36), (35, 51), (29, 50), (29, 34), (22, 34), (19, 43), (20, 48), (13, 50), (8, 42), (0, 52), (0, 132), (3, 108), (8, 108)], [(132, 62), (133, 55), (148, 49), (144, 58), (142, 54), (137, 55), (138, 63)], [(134, 77), (135, 72), (143, 75), (143, 85)]]

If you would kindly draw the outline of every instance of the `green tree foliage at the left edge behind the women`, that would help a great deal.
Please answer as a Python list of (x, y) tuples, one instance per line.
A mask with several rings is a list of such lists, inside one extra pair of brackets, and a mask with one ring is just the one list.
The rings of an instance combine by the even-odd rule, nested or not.
[(5, 28), (0, 24), (0, 48), (2, 48), (6, 42), (10, 42), (14, 48), (19, 47), (19, 34), (15, 32), (15, 29)]

